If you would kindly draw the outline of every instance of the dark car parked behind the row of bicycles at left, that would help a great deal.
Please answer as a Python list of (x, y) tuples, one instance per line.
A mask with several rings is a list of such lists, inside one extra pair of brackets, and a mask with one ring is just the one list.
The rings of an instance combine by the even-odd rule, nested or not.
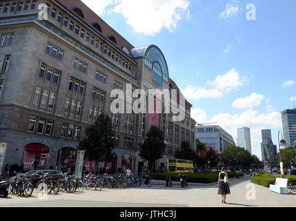
[[(42, 177), (45, 173), (48, 173), (48, 177), (60, 178), (62, 177), (62, 171), (58, 170), (36, 170), (29, 171), (28, 173), (24, 173), (25, 178), (31, 178), (31, 182), (33, 186), (37, 186), (37, 183), (42, 180)], [(11, 177), (10, 181), (14, 180), (15, 177)]]

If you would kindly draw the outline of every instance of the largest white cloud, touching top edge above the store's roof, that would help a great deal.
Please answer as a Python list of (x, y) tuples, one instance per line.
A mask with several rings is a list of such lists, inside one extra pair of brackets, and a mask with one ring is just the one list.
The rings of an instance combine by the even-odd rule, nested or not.
[(98, 15), (121, 13), (135, 32), (155, 35), (162, 28), (173, 32), (182, 17), (190, 17), (189, 0), (82, 0)]

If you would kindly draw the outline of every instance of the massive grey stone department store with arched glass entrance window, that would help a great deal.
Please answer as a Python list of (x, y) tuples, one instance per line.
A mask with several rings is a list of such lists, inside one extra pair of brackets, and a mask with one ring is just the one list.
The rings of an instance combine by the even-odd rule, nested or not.
[[(48, 19), (38, 18), (38, 7)], [(37, 168), (71, 167), (87, 126), (100, 113), (110, 115), (116, 131), (114, 160), (101, 166), (112, 172), (132, 166), (143, 171), (139, 145), (150, 126), (149, 114), (110, 111), (114, 88), (177, 89), (162, 51), (155, 45), (136, 48), (79, 0), (0, 1), (0, 142), (8, 148), (4, 165)], [(116, 101), (120, 102), (120, 101)], [(125, 105), (125, 104), (124, 104)], [(169, 139), (166, 165), (182, 140), (195, 149), (195, 120), (186, 102), (182, 122), (157, 115)], [(85, 159), (87, 171), (94, 162)]]

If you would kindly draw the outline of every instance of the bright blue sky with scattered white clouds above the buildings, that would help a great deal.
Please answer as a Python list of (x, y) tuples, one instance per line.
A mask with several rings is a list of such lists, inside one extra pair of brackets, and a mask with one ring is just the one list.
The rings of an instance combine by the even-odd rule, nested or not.
[(235, 142), (250, 127), (260, 158), (261, 129), (278, 143), (280, 113), (296, 97), (296, 1), (82, 1), (132, 45), (161, 48), (198, 123), (217, 122)]

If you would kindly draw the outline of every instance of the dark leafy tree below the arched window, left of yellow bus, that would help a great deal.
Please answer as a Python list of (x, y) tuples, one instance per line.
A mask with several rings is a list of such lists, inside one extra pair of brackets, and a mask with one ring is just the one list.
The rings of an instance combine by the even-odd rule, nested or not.
[(140, 146), (139, 155), (148, 161), (150, 171), (155, 171), (155, 160), (164, 155), (166, 144), (164, 144), (164, 132), (157, 126), (151, 126), (143, 144)]

